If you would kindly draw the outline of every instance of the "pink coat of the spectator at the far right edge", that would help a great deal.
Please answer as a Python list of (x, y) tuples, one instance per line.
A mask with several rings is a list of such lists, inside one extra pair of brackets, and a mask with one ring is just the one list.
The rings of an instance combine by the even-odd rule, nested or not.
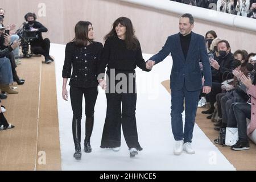
[(251, 96), (251, 121), (247, 126), (247, 135), (250, 135), (256, 129), (256, 86), (247, 89), (247, 94)]

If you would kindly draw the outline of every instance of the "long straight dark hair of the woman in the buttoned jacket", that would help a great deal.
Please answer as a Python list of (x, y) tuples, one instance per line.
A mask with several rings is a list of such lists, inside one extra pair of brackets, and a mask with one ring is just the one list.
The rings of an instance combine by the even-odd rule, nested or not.
[(79, 21), (75, 26), (75, 38), (72, 42), (75, 42), (77, 46), (87, 46), (88, 42), (92, 43), (93, 39), (88, 38), (88, 27), (92, 26), (92, 23), (87, 21)]

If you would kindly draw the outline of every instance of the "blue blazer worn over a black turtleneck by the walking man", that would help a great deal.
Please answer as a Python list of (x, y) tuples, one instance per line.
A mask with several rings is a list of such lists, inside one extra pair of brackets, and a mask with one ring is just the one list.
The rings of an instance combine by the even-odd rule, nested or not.
[(196, 91), (203, 88), (199, 65), (200, 60), (202, 61), (204, 69), (204, 86), (212, 87), (212, 73), (204, 36), (192, 32), (187, 59), (184, 58), (181, 48), (180, 33), (168, 36), (162, 50), (152, 56), (150, 60), (158, 64), (170, 53), (173, 60), (170, 77), (171, 90), (181, 90), (183, 86), (185, 86), (188, 91)]

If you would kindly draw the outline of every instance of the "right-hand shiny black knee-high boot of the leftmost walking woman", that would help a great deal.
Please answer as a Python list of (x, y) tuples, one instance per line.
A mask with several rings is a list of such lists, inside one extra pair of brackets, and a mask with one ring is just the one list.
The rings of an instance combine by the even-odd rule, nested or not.
[(90, 118), (85, 119), (85, 139), (84, 139), (84, 151), (86, 153), (92, 152), (92, 147), (90, 146), (90, 137), (92, 136), (94, 124), (94, 115)]

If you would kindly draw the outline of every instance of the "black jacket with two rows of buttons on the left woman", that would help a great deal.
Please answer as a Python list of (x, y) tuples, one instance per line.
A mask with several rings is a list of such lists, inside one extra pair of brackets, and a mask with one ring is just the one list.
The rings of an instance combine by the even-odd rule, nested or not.
[(93, 42), (85, 47), (76, 46), (75, 42), (67, 44), (62, 77), (71, 78), (69, 85), (80, 88), (98, 86), (97, 77), (100, 72), (99, 58), (102, 47), (99, 42)]

